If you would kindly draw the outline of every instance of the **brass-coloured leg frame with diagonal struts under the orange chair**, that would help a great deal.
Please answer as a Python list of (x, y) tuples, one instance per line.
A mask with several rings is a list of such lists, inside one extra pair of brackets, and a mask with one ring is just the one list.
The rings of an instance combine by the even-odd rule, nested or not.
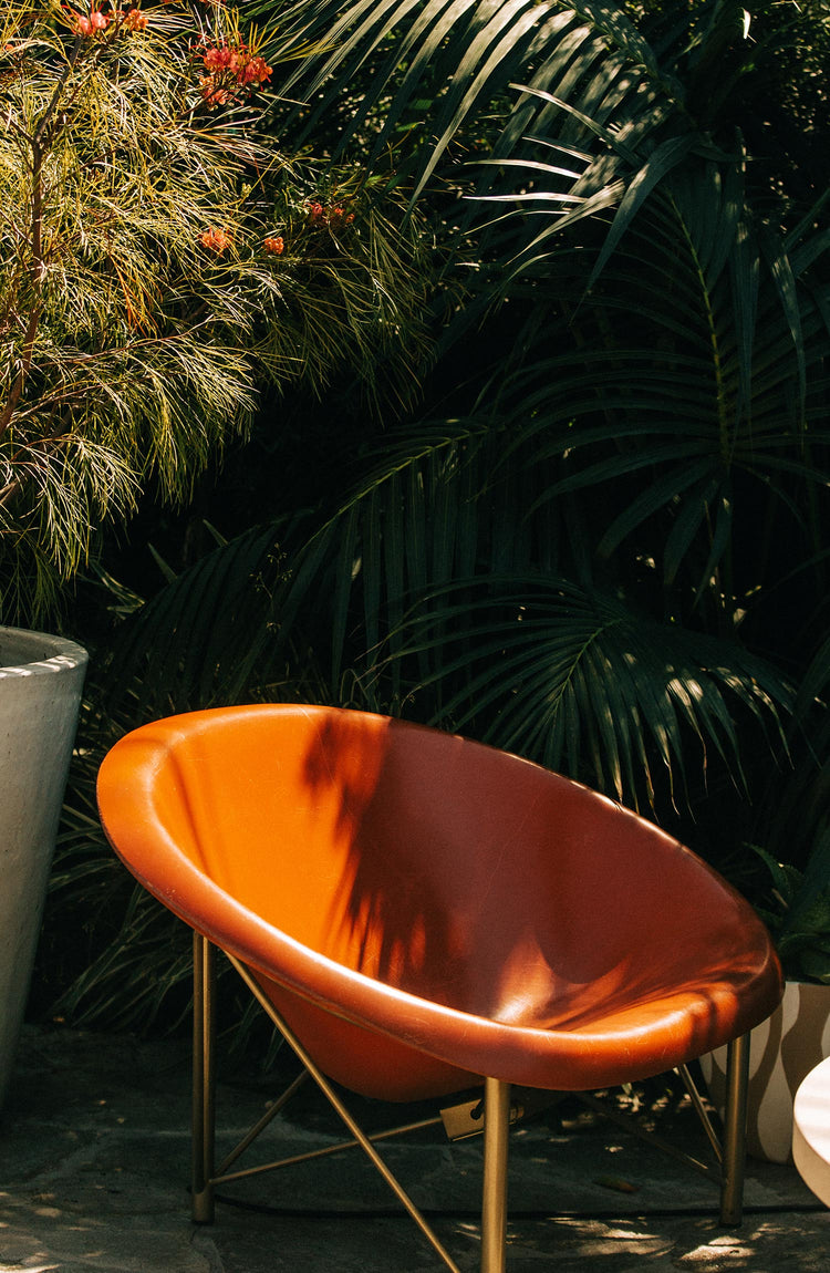
[[(281, 1097), (275, 1101), (262, 1118), (255, 1124), (246, 1137), (228, 1155), (219, 1170), (215, 1167), (215, 947), (200, 933), (193, 933), (193, 1086), (192, 1086), (192, 1178), (191, 1178), (191, 1214), (196, 1223), (213, 1223), (215, 1213), (215, 1188), (229, 1180), (238, 1180), (248, 1175), (269, 1171), (275, 1167), (288, 1166), (293, 1162), (306, 1161), (311, 1157), (322, 1157), (327, 1153), (337, 1152), (350, 1146), (360, 1146), (370, 1158), (374, 1167), (384, 1179), (392, 1193), (397, 1197), (411, 1218), (418, 1225), (423, 1236), (432, 1245), (451, 1273), (460, 1273), (444, 1245), (440, 1242), (425, 1217), (418, 1209), (410, 1195), (400, 1184), (397, 1178), (377, 1152), (374, 1144), (378, 1141), (388, 1139), (392, 1136), (402, 1134), (424, 1127), (439, 1124), (440, 1118), (425, 1119), (411, 1123), (390, 1132), (382, 1132), (368, 1137), (354, 1120), (348, 1108), (341, 1101), (339, 1094), (328, 1082), (326, 1076), (318, 1069), (314, 1060), (303, 1048), (299, 1039), (274, 1008), (264, 994), (247, 967), (234, 956), (228, 955), (232, 965), (251, 993), (258, 1001), (264, 1011), (274, 1022), (286, 1043), (298, 1055), (304, 1071), (286, 1088)], [(704, 1130), (709, 1138), (718, 1167), (715, 1175), (721, 1184), (721, 1223), (735, 1227), (741, 1223), (743, 1208), (743, 1178), (746, 1158), (746, 1092), (749, 1086), (749, 1035), (736, 1039), (728, 1046), (727, 1059), (727, 1104), (723, 1122), (723, 1138), (718, 1138), (696, 1087), (686, 1067), (681, 1067), (681, 1076), (690, 1092), (693, 1104), (700, 1115)], [(265, 1164), (262, 1166), (246, 1170), (230, 1171), (229, 1167), (242, 1155), (242, 1152), (256, 1139), (260, 1132), (272, 1118), (285, 1106), (290, 1096), (299, 1085), (312, 1077), (321, 1088), (326, 1099), (339, 1114), (340, 1119), (351, 1134), (351, 1139), (311, 1153), (295, 1155), (292, 1158), (283, 1158), (279, 1162)], [(554, 1094), (551, 1094), (554, 1095)], [(589, 1096), (583, 1096), (592, 1108), (600, 1108), (606, 1116), (619, 1118), (612, 1111)], [(508, 1138), (510, 1124), (510, 1088), (508, 1083), (495, 1078), (485, 1078), (484, 1088), (484, 1179), (481, 1200), (481, 1273), (505, 1273), (505, 1248), (507, 1248), (507, 1179), (508, 1179)], [(629, 1125), (626, 1123), (626, 1125)], [(659, 1142), (657, 1137), (643, 1133), (657, 1143), (658, 1147), (676, 1153), (698, 1170), (708, 1175), (713, 1171), (704, 1164), (690, 1158), (690, 1156), (676, 1151), (673, 1147)]]

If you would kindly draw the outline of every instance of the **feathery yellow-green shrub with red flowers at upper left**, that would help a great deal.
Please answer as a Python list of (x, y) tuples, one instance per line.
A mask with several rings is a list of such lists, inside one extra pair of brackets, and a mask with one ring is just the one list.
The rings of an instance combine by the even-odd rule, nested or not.
[[(340, 201), (311, 215), (317, 178), (260, 131), (290, 32), (264, 41), (239, 13), (187, 0), (0, 11), (9, 622), (39, 617), (144, 482), (187, 499), (209, 457), (246, 434), (264, 382), (402, 368), (424, 307), (402, 218), (370, 200), (346, 250), (354, 213)], [(378, 261), (400, 270), (395, 285)]]

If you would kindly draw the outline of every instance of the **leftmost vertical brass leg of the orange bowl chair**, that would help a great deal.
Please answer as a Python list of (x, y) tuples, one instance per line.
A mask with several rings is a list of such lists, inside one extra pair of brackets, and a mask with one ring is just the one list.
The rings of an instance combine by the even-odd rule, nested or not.
[(193, 933), (193, 1105), (191, 1216), (199, 1225), (214, 1222), (214, 981), (215, 951), (206, 937)]

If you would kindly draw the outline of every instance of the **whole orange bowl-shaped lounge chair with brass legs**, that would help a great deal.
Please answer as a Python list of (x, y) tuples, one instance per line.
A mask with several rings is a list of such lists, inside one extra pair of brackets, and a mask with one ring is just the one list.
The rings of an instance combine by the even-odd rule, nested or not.
[(780, 970), (750, 906), (652, 824), (517, 756), (322, 707), (145, 726), (106, 757), (98, 801), (130, 871), (197, 934), (195, 1218), (216, 1183), (210, 943), (448, 1268), (328, 1078), (392, 1101), (484, 1078), (481, 1269), (502, 1273), (509, 1085), (588, 1091), (732, 1043), (722, 1218), (740, 1218), (743, 1036)]

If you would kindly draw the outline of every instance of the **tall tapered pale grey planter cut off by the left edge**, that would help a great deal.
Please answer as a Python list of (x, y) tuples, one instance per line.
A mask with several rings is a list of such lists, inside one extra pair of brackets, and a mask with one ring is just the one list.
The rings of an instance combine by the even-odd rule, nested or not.
[(0, 1104), (25, 1009), (87, 651), (0, 628)]

